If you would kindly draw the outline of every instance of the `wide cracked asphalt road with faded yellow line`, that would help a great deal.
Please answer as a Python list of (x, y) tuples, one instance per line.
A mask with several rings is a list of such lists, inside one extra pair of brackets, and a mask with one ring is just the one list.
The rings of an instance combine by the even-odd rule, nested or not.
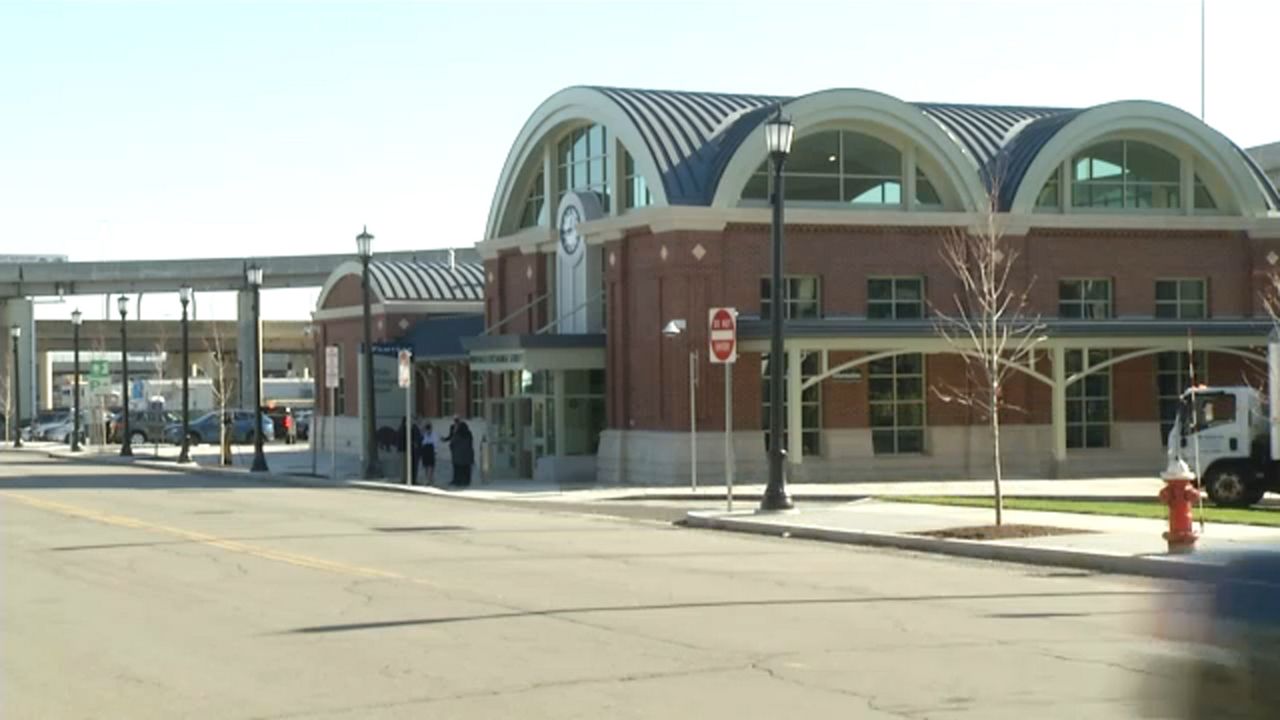
[(1132, 719), (1171, 682), (1183, 591), (1138, 579), (4, 455), (5, 719)]

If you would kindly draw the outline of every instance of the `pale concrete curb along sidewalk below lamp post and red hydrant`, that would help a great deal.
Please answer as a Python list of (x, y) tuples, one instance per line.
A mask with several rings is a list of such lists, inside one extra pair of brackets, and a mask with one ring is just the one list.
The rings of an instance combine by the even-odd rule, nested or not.
[(995, 544), (984, 541), (943, 539), (902, 533), (881, 533), (874, 530), (846, 530), (836, 528), (817, 528), (806, 525), (769, 524), (759, 520), (726, 518), (704, 511), (689, 512), (677, 524), (686, 528), (710, 530), (730, 530), (760, 536), (783, 536), (800, 539), (861, 544), (872, 547), (893, 547), (936, 555), (952, 555), (975, 560), (995, 560), (1019, 562), (1023, 565), (1052, 565), (1094, 570), (1119, 575), (1143, 575), (1175, 580), (1202, 579), (1207, 573), (1221, 568), (1212, 562), (1198, 560), (1174, 560), (1166, 556), (1119, 555), (1106, 552), (1083, 552), (1059, 547), (1027, 547), (1014, 544)]

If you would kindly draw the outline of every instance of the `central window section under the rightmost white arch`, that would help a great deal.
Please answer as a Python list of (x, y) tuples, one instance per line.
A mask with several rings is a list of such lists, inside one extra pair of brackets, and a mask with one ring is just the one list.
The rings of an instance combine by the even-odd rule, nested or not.
[(1135, 140), (1100, 142), (1071, 159), (1071, 206), (1176, 210), (1181, 206), (1178, 158)]

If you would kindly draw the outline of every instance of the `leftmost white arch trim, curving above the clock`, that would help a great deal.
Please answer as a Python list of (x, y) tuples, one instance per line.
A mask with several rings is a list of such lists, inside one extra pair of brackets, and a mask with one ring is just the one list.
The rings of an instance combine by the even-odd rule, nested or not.
[[(662, 184), (662, 176), (658, 173), (658, 164), (645, 145), (640, 128), (631, 118), (603, 92), (590, 87), (570, 87), (552, 95), (534, 110), (525, 127), (511, 146), (507, 161), (498, 176), (498, 186), (494, 188), (493, 200), (489, 205), (489, 222), (485, 225), (485, 240), (492, 240), (502, 234), (506, 227), (506, 213), (513, 208), (512, 193), (524, 190), (520, 181), (522, 170), (530, 161), (538, 161), (541, 167), (539, 152), (543, 141), (548, 136), (557, 135), (563, 127), (580, 123), (598, 123), (604, 126), (613, 138), (626, 146), (627, 152), (635, 160), (636, 172), (645, 178), (649, 192), (653, 195), (654, 205), (667, 205), (667, 190)], [(535, 173), (536, 174), (536, 173)], [(522, 199), (520, 199), (522, 200)], [(552, 202), (553, 199), (548, 199)]]

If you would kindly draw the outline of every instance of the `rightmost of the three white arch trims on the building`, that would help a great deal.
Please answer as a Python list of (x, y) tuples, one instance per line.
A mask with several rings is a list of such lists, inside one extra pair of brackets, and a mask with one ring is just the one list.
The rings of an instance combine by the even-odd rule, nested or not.
[(1034, 211), (1037, 195), (1064, 161), (1103, 136), (1124, 132), (1162, 136), (1189, 149), (1206, 160), (1225, 182), (1230, 197), (1216, 197), (1220, 206), (1226, 200), (1229, 206), (1243, 215), (1266, 215), (1267, 204), (1262, 187), (1226, 137), (1189, 113), (1148, 100), (1107, 102), (1084, 110), (1066, 123), (1041, 147), (1023, 173), (1010, 213)]

